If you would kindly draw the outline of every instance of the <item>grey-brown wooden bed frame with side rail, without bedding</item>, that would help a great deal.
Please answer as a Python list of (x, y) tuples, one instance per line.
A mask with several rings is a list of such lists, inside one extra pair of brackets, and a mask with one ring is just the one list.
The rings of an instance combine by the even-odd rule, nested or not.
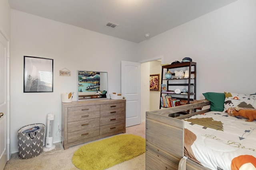
[(198, 111), (197, 108), (204, 106), (210, 106), (210, 102), (201, 100), (198, 103), (146, 111), (146, 170), (209, 170), (184, 157), (184, 121), (181, 120), (210, 111)]

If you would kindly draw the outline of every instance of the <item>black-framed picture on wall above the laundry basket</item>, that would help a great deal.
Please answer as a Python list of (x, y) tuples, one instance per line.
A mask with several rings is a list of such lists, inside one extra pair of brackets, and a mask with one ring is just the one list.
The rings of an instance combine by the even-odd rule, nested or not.
[(53, 92), (53, 59), (24, 56), (23, 92)]

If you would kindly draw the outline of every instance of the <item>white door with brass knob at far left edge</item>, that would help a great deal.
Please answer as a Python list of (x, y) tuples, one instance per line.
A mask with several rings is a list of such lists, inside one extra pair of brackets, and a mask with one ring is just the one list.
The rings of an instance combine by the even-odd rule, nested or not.
[(8, 160), (8, 41), (0, 31), (0, 170)]

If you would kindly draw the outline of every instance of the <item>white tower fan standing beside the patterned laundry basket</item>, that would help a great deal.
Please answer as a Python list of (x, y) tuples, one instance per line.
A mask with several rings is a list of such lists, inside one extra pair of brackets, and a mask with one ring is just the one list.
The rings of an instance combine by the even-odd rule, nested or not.
[(44, 151), (52, 150), (55, 148), (53, 144), (53, 132), (54, 132), (54, 114), (50, 113), (47, 115), (46, 124), (46, 139)]

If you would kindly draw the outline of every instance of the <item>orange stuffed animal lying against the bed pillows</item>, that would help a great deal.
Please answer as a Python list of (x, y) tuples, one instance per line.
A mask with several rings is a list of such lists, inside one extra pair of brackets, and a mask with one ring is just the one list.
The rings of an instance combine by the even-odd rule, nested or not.
[(256, 120), (256, 110), (253, 109), (240, 109), (239, 107), (235, 107), (234, 110), (228, 111), (231, 116), (242, 116), (248, 118), (246, 121)]

